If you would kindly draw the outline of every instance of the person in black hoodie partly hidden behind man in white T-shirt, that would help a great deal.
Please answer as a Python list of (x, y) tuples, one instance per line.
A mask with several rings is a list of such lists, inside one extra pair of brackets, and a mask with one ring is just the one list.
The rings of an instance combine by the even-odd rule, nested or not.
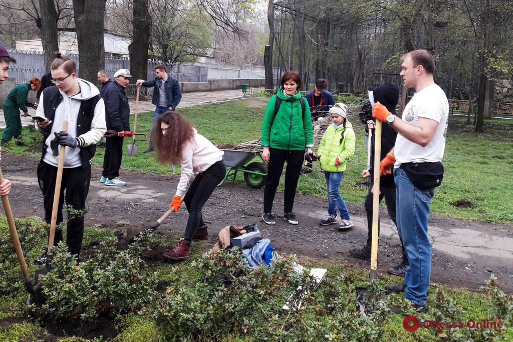
[[(388, 111), (390, 111), (393, 115), (396, 115), (396, 106), (399, 102), (399, 88), (394, 86), (393, 84), (384, 84), (380, 87), (374, 88), (372, 90), (374, 95), (374, 101), (383, 104)], [(367, 123), (369, 120), (372, 120), (372, 112), (370, 116), (361, 115), (360, 119), (362, 122)], [(396, 144), (397, 132), (390, 127), (390, 125), (382, 125), (381, 126), (381, 156), (380, 160), (383, 160), (387, 152)], [(374, 158), (374, 135), (372, 135), (371, 144), (371, 160)], [(371, 168), (369, 170), (365, 169), (362, 172), (362, 177), (367, 178), (371, 177), (371, 181), (373, 178), (373, 163), (371, 163)], [(362, 249), (354, 249), (350, 250), (349, 254), (354, 258), (364, 259), (370, 261), (370, 245), (372, 241), (372, 185), (369, 187), (367, 192), (367, 197), (365, 198), (365, 211), (367, 212), (367, 226), (368, 226), (368, 235), (367, 242)], [(392, 219), (393, 223), (397, 226), (396, 219), (396, 182), (394, 181), (393, 175), (385, 175), (380, 177), (380, 202), (385, 198), (385, 203), (388, 210), (388, 215)], [(379, 231), (378, 231), (379, 234)], [(388, 269), (388, 273), (398, 276), (404, 276), (406, 272), (406, 268), (408, 267), (408, 257), (406, 256), (406, 251), (404, 249), (403, 240), (401, 239), (401, 251), (402, 251), (402, 261), (395, 267), (391, 267)]]

